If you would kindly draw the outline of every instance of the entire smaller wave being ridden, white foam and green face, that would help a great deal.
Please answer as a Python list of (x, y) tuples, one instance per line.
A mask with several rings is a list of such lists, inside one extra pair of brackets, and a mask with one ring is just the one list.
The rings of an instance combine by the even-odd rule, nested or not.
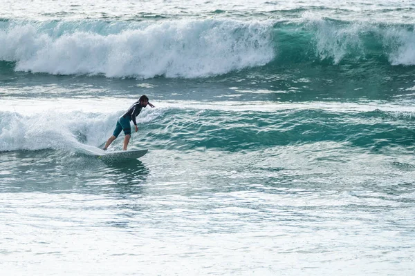
[[(49, 110), (37, 115), (0, 112), (0, 151), (72, 150), (100, 146), (121, 112)], [(413, 112), (273, 110), (229, 111), (192, 108), (146, 110), (139, 135), (154, 148), (251, 150), (334, 141), (362, 148), (412, 145)], [(118, 139), (117, 143), (122, 143)]]

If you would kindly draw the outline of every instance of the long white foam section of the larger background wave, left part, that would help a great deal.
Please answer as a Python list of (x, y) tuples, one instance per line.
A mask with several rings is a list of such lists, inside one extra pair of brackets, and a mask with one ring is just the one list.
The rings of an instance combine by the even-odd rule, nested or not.
[[(16, 70), (107, 77), (207, 77), (273, 60), (272, 21), (194, 20), (144, 24), (118, 34), (73, 31), (61, 36), (34, 26), (0, 31), (0, 59)], [(60, 32), (61, 30), (59, 30)]]

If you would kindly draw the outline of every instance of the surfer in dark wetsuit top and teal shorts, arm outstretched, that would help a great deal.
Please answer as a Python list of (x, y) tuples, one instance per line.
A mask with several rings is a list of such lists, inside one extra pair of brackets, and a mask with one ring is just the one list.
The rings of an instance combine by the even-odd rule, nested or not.
[(130, 121), (132, 120), (134, 123), (134, 127), (136, 128), (136, 132), (138, 131), (138, 126), (137, 126), (137, 122), (136, 122), (136, 117), (140, 114), (141, 109), (145, 108), (147, 106), (147, 104), (149, 106), (151, 106), (151, 108), (154, 108), (154, 106), (149, 103), (149, 98), (146, 95), (142, 95), (140, 97), (140, 99), (138, 99), (138, 101), (136, 101), (135, 103), (133, 103), (133, 105), (127, 110), (127, 112), (124, 113), (124, 115), (122, 115), (118, 121), (117, 121), (117, 125), (116, 125), (116, 129), (113, 132), (113, 135), (111, 135), (111, 137), (109, 137), (107, 143), (105, 144), (103, 150), (107, 150), (107, 148), (109, 147), (109, 145), (111, 145), (111, 143), (118, 137), (118, 135), (120, 135), (121, 130), (124, 130), (124, 146), (123, 146), (123, 150), (127, 150), (127, 146), (129, 143), (129, 139), (131, 137), (131, 125), (130, 125)]

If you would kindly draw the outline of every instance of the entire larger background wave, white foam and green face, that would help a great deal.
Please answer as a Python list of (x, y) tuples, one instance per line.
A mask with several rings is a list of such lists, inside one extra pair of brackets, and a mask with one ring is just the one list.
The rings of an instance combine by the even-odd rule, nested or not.
[[(415, 65), (414, 26), (199, 19), (0, 22), (0, 60), (26, 72), (197, 78), (281, 64)], [(4, 63), (2, 65), (4, 67)], [(0, 69), (1, 70), (1, 69)]]

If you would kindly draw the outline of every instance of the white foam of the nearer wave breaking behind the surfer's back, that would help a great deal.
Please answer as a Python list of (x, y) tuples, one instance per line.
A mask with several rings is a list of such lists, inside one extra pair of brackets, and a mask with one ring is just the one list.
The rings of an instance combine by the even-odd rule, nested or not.
[[(98, 146), (111, 132), (117, 114), (56, 111), (36, 115), (0, 112), (0, 151)], [(85, 141), (82, 141), (85, 140)]]

